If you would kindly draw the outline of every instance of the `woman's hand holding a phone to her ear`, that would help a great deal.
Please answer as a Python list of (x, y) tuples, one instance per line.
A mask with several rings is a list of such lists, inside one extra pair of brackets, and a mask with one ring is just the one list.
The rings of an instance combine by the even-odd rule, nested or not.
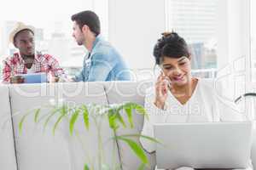
[(166, 77), (163, 72), (157, 78), (155, 83), (155, 100), (154, 105), (160, 109), (164, 109), (166, 99), (168, 96), (168, 90), (171, 88), (171, 81), (169, 77)]

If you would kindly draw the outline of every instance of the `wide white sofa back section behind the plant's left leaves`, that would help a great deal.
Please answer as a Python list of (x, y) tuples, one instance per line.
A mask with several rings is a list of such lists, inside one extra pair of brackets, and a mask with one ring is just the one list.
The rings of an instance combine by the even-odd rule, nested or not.
[[(64, 118), (52, 133), (52, 127), (58, 116), (53, 116), (49, 125), (44, 131), (44, 122), (35, 124), (34, 117), (27, 116), (24, 122), (22, 133), (19, 133), (18, 126), (20, 118), (26, 111), (38, 108), (41, 105), (49, 105), (49, 101), (60, 103), (65, 101), (68, 105), (79, 105), (82, 103), (108, 104), (102, 85), (96, 83), (43, 83), (43, 84), (24, 84), (10, 85), (10, 96), (12, 111), (14, 116), (15, 140), (17, 150), (17, 161), (20, 170), (40, 170), (40, 169), (83, 169), (84, 161), (88, 161), (86, 156), (95, 156), (98, 144), (96, 143), (96, 127), (90, 124), (90, 131), (84, 130), (84, 124), (78, 121), (75, 124), (76, 132), (81, 134), (69, 134), (69, 122)], [(40, 116), (49, 114), (50, 109), (44, 107)], [(102, 140), (111, 136), (108, 131), (107, 123), (102, 122)], [(85, 143), (85, 144), (81, 144)], [(84, 146), (86, 146), (84, 148)], [(113, 144), (109, 143), (106, 153), (112, 151)], [(114, 147), (114, 146), (113, 146)], [(84, 150), (85, 149), (85, 150)], [(116, 155), (117, 155), (116, 150)], [(110, 156), (108, 156), (110, 157)], [(94, 160), (91, 159), (90, 161)], [(108, 163), (111, 159), (107, 159)], [(112, 161), (112, 160), (111, 160)], [(119, 160), (117, 161), (119, 164)]]

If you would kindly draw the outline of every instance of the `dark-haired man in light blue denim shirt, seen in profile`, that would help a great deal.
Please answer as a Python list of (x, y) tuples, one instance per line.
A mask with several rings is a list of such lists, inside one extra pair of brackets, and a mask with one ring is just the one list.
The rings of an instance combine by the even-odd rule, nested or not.
[(84, 57), (83, 70), (75, 82), (129, 81), (131, 72), (120, 54), (109, 42), (103, 40), (100, 20), (92, 11), (73, 14), (73, 37), (84, 45), (88, 53)]

